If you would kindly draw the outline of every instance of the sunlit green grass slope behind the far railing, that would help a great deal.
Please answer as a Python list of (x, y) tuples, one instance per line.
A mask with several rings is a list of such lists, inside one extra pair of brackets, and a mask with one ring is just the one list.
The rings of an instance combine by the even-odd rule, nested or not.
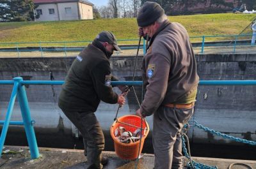
[[(168, 18), (171, 22), (179, 22), (185, 26), (189, 36), (203, 36), (239, 34), (255, 17), (255, 14), (220, 13)], [(115, 18), (0, 23), (0, 43), (93, 40), (97, 33), (103, 30), (112, 31), (118, 40), (138, 38), (136, 18)], [(248, 29), (244, 33), (251, 33), (251, 31)], [(211, 38), (211, 40), (217, 39)]]

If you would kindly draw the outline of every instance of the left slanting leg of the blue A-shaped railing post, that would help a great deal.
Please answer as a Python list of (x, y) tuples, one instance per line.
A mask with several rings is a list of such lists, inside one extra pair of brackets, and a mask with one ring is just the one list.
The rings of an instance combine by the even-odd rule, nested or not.
[(9, 126), (10, 119), (11, 119), (11, 116), (12, 116), (12, 111), (13, 111), (15, 99), (16, 99), (16, 96), (17, 96), (18, 87), (19, 87), (19, 80), (14, 79), (12, 95), (11, 95), (11, 98), (10, 98), (10, 102), (9, 102), (9, 105), (8, 105), (8, 109), (7, 109), (6, 117), (5, 117), (5, 121), (4, 121), (4, 126), (3, 126), (3, 129), (2, 129), (2, 132), (1, 132), (1, 137), (0, 137), (0, 157), (1, 157), (1, 154), (2, 154), (2, 151), (3, 151), (4, 140), (6, 138), (8, 126)]

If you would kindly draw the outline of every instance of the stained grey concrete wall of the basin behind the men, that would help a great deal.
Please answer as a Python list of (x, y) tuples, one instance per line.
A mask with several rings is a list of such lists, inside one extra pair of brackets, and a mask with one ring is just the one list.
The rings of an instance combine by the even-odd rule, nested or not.
[[(12, 80), (18, 76), (24, 77), (24, 80), (64, 80), (73, 59), (0, 59), (0, 80)], [(139, 57), (135, 80), (141, 80), (141, 60), (142, 57)], [(256, 80), (255, 54), (196, 55), (196, 60), (200, 80)], [(113, 74), (120, 77), (120, 80), (131, 80), (134, 62), (134, 57), (112, 57)], [(61, 87), (58, 85), (26, 86), (32, 119), (36, 121), (36, 130), (40, 130), (41, 133), (58, 134), (61, 130), (67, 135), (74, 135), (74, 126), (57, 105), (60, 90)], [(0, 120), (4, 120), (11, 92), (12, 85), (0, 85)], [(141, 87), (136, 87), (136, 93), (141, 100)], [(198, 88), (193, 119), (211, 129), (239, 138), (256, 140), (255, 100), (256, 86), (201, 85)], [(130, 92), (127, 96), (127, 105), (120, 110), (118, 116), (134, 114), (137, 108), (135, 96)], [(107, 136), (116, 110), (117, 105), (100, 103), (96, 112)], [(16, 104), (12, 120), (20, 119), (19, 105)], [(146, 120), (152, 131), (152, 117), (147, 117)], [(229, 140), (223, 140), (193, 127), (189, 131), (189, 137), (195, 143), (230, 143)]]

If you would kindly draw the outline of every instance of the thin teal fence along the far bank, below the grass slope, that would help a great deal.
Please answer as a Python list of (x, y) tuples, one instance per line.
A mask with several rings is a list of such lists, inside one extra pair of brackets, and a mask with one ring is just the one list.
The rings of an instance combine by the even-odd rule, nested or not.
[[(255, 34), (256, 36), (256, 34)], [(246, 52), (247, 49), (254, 50), (256, 47), (251, 43), (252, 34), (218, 35), (218, 36), (191, 36), (193, 48), (198, 54), (204, 54), (205, 49), (215, 50), (215, 52), (239, 53)], [(247, 40), (246, 40), (247, 39)], [(215, 41), (211, 41), (215, 40)], [(8, 54), (11, 57), (47, 57), (47, 56), (74, 56), (83, 50), (92, 41), (39, 41), (39, 42), (15, 42), (0, 43), (0, 56)], [(118, 40), (118, 45), (123, 51), (138, 48), (138, 39)], [(141, 54), (146, 52), (146, 41), (143, 40), (140, 49)], [(33, 53), (32, 53), (33, 52)], [(115, 52), (119, 55), (119, 52)], [(132, 53), (134, 54), (134, 53)], [(6, 56), (8, 56), (6, 55)]]

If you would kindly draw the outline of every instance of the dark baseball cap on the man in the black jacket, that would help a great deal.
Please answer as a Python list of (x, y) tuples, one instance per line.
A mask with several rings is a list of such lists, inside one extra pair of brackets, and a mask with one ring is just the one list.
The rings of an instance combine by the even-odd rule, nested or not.
[(109, 31), (102, 31), (97, 36), (96, 39), (103, 42), (108, 42), (109, 44), (112, 44), (114, 46), (114, 50), (121, 51), (121, 49), (118, 47), (115, 35)]

